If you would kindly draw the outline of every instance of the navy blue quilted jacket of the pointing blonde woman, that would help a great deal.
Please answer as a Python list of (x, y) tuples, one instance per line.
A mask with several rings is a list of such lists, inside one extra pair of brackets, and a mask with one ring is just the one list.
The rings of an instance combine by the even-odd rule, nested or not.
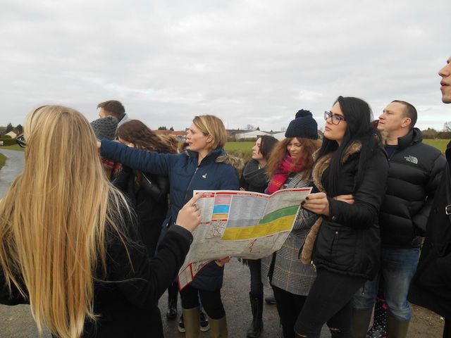
[[(211, 151), (199, 166), (197, 152), (190, 150), (181, 154), (159, 154), (103, 139), (100, 151), (102, 156), (130, 168), (169, 177), (171, 214), (165, 224), (175, 222), (178, 211), (191, 199), (193, 190), (237, 190), (239, 187), (237, 170), (230, 164), (236, 159), (227, 156), (223, 149)], [(223, 268), (212, 262), (199, 272), (192, 286), (214, 291), (221, 288), (222, 280)]]

